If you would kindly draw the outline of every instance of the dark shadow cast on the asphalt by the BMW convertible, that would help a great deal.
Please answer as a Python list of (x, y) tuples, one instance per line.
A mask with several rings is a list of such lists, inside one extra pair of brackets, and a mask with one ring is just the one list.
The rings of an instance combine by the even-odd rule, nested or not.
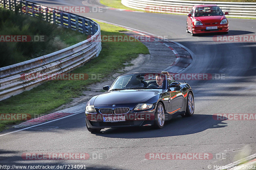
[(110, 128), (96, 135), (107, 138), (157, 138), (194, 134), (227, 126), (227, 123), (223, 123), (222, 120), (215, 119), (214, 115), (194, 115), (185, 118), (178, 116), (166, 121), (162, 129), (154, 129), (152, 126)]

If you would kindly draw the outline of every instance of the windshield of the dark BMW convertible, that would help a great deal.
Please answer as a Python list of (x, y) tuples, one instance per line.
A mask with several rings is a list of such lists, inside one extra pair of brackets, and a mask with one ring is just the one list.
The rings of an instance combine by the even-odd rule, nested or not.
[(127, 74), (118, 77), (109, 90), (164, 89), (164, 80), (165, 75), (158, 73)]

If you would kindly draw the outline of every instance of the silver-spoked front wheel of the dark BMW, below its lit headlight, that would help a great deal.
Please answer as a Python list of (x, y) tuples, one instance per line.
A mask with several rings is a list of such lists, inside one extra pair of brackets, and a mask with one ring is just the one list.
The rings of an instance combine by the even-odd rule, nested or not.
[(159, 102), (156, 106), (156, 112), (155, 112), (155, 122), (154, 122), (155, 128), (157, 129), (163, 128), (164, 120), (165, 120), (164, 106), (162, 103)]

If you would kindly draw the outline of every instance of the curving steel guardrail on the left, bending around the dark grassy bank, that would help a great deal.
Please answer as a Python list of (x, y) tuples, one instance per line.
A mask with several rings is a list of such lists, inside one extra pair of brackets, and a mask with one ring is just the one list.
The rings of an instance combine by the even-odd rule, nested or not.
[[(27, 15), (42, 18), (52, 24), (58, 24), (86, 35), (92, 35), (89, 39), (54, 53), (1, 67), (0, 101), (30, 90), (51, 78), (44, 75), (50, 74), (54, 76), (70, 72), (100, 54), (101, 41), (97, 38), (100, 37), (100, 25), (91, 19), (24, 0), (0, 0), (0, 7), (12, 11), (25, 12)], [(29, 12), (28, 8), (32, 7), (33, 10), (38, 10), (38, 12)], [(97, 40), (95, 40), (96, 38)], [(24, 77), (31, 74), (40, 74), (42, 78), (34, 80), (24, 79)]]

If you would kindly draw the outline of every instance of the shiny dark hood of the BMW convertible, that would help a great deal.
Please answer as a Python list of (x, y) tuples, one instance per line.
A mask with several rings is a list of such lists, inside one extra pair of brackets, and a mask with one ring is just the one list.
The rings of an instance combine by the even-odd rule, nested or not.
[(120, 91), (108, 91), (97, 96), (94, 100), (94, 106), (107, 105), (107, 104), (129, 104), (140, 103), (146, 98), (159, 95), (162, 89), (147, 89), (147, 90), (120, 90)]

